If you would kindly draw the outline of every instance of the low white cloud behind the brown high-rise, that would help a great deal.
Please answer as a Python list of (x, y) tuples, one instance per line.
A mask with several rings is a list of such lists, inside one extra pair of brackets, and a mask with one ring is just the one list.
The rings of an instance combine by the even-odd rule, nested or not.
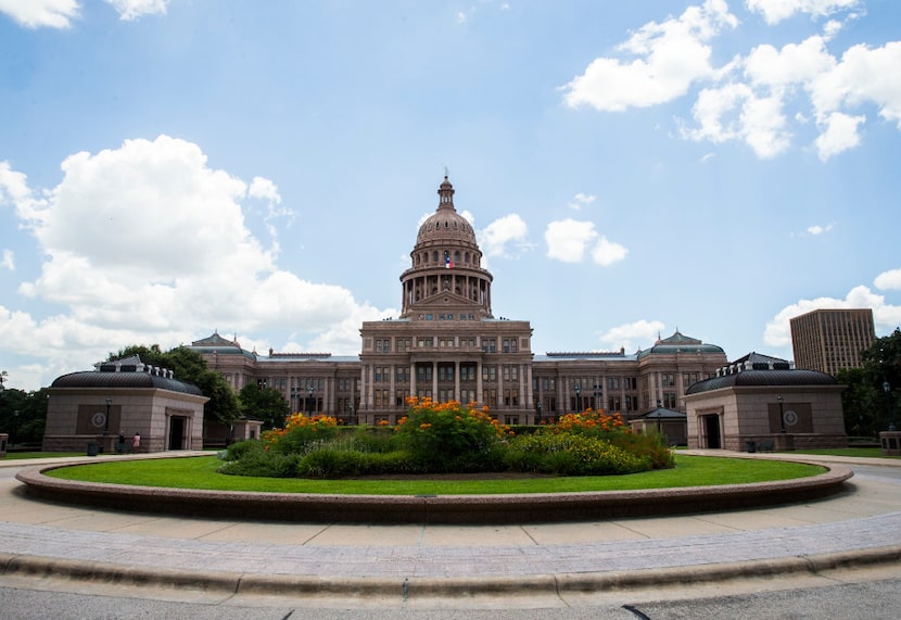
[[(886, 274), (892, 274), (887, 271)], [(893, 283), (896, 276), (883, 274), (884, 282)], [(877, 278), (878, 279), (878, 278)], [(763, 341), (771, 346), (791, 346), (791, 328), (789, 319), (815, 309), (829, 308), (872, 308), (873, 322), (876, 331), (894, 329), (901, 325), (901, 306), (886, 303), (884, 295), (870, 290), (868, 287), (858, 286), (851, 289), (845, 299), (817, 298), (815, 300), (800, 300), (779, 311), (773, 319), (766, 324), (763, 332)]]

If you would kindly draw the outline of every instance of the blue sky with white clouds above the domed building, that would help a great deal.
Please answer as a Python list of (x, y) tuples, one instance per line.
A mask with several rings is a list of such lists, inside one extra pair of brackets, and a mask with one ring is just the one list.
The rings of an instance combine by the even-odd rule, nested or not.
[(445, 172), (533, 352), (901, 325), (897, 0), (0, 0), (0, 370), (360, 351)]

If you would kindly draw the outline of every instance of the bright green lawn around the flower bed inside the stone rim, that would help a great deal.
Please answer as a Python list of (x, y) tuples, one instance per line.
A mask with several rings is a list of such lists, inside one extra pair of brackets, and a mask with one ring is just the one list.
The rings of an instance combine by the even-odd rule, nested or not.
[(307, 480), (224, 476), (212, 456), (99, 463), (54, 469), (65, 480), (221, 491), (337, 493), (364, 495), (464, 495), (626, 491), (708, 486), (805, 478), (825, 471), (814, 465), (676, 455), (676, 467), (629, 476), (525, 478), (504, 480)]

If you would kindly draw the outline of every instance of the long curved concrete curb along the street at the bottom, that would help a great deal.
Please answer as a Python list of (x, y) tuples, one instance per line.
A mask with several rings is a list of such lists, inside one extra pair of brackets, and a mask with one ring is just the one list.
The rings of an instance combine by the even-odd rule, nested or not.
[[(347, 578), (139, 568), (0, 554), (0, 574), (68, 579), (116, 585), (156, 585), (228, 595), (409, 598), (479, 595), (566, 596), (668, 585), (723, 583), (746, 578), (816, 575), (830, 570), (898, 565), (901, 545), (809, 556), (609, 572), (536, 573), (490, 578)], [(686, 570), (690, 568), (690, 570)]]

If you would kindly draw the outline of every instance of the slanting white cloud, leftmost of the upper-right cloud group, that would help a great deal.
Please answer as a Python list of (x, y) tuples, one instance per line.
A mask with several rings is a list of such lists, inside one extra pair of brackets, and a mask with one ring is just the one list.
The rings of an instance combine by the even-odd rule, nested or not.
[(737, 23), (724, 0), (707, 0), (662, 24), (645, 24), (618, 48), (636, 56), (634, 60), (595, 59), (582, 75), (562, 87), (563, 101), (571, 107), (587, 104), (620, 112), (681, 97), (694, 81), (715, 74), (707, 43), (723, 27)]

